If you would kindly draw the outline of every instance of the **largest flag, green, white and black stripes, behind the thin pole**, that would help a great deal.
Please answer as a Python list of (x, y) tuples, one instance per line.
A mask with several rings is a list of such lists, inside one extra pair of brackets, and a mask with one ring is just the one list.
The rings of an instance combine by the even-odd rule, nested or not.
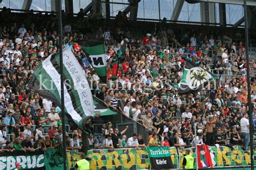
[[(63, 72), (65, 114), (83, 130), (81, 122), (94, 113), (93, 98), (85, 72), (69, 48), (63, 51)], [(50, 55), (38, 66), (28, 88), (61, 107), (59, 53)]]

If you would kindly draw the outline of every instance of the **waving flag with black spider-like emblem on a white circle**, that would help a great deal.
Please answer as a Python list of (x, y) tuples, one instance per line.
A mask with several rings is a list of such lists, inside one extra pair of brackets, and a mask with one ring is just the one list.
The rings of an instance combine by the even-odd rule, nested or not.
[(212, 73), (186, 60), (183, 76), (180, 81), (179, 95), (197, 93), (213, 79), (216, 79), (216, 77)]

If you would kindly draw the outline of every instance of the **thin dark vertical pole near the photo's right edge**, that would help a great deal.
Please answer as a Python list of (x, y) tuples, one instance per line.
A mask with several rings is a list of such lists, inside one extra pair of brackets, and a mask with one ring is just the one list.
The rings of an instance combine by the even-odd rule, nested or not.
[(252, 117), (252, 103), (251, 103), (251, 80), (250, 80), (250, 62), (249, 62), (249, 41), (248, 41), (248, 17), (247, 4), (244, 0), (244, 16), (245, 16), (245, 53), (246, 53), (246, 75), (247, 75), (247, 93), (248, 93), (248, 107), (249, 107), (249, 122), (250, 122), (250, 150), (251, 150), (251, 169), (254, 169), (253, 162), (253, 117)]

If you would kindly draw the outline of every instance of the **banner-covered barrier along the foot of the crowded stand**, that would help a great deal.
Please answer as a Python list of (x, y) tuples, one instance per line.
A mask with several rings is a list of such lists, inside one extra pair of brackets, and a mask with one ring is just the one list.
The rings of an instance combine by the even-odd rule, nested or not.
[[(185, 150), (191, 151), (196, 158), (195, 148), (170, 147), (171, 161), (174, 168), (182, 168)], [(250, 151), (245, 153), (240, 146), (208, 146), (211, 155), (212, 167), (214, 168), (238, 168), (251, 165)], [(151, 162), (147, 148), (120, 148), (116, 150), (89, 150), (87, 157), (90, 160), (90, 169), (150, 169)], [(256, 148), (254, 148), (256, 157)], [(67, 152), (69, 168), (76, 165), (80, 160), (77, 152)], [(209, 158), (207, 158), (209, 159)], [(255, 159), (254, 159), (255, 160)], [(196, 159), (195, 159), (196, 161)], [(21, 162), (22, 169), (58, 169), (63, 166), (63, 157), (58, 150), (36, 152), (1, 152), (0, 169), (14, 169), (16, 162)], [(256, 161), (254, 161), (256, 165)], [(196, 165), (194, 165), (196, 168)], [(256, 167), (255, 167), (256, 168)]]

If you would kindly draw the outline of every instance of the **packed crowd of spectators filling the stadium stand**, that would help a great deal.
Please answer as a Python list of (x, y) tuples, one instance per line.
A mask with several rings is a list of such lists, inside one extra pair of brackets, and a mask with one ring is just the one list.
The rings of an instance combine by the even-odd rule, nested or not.
[[(5, 21), (15, 21), (16, 14), (8, 9), (1, 11)], [(35, 151), (57, 148), (62, 145), (62, 122), (60, 109), (53, 101), (40, 96), (33, 89), (26, 89), (31, 75), (39, 64), (58, 51), (56, 21), (50, 22), (42, 13), (28, 14), (31, 23), (2, 23), (0, 40), (0, 145), (2, 151)], [(38, 19), (44, 22), (35, 25)], [(77, 20), (90, 23), (80, 15)], [(126, 18), (127, 19), (127, 18)], [(160, 23), (158, 33), (146, 33), (145, 37), (134, 38), (126, 28), (127, 20), (119, 13), (116, 29), (98, 27), (96, 38), (104, 38), (107, 69), (111, 62), (123, 52), (117, 71), (117, 83), (93, 84), (92, 93), (112, 110), (124, 115), (130, 121), (137, 121), (150, 133), (149, 141), (143, 141), (141, 134), (125, 136), (114, 127), (113, 122), (105, 124), (100, 114), (94, 123), (99, 124), (89, 138), (91, 146), (146, 147), (195, 145), (245, 145), (248, 149), (248, 101), (245, 47), (240, 34), (212, 32), (205, 34), (187, 30), (176, 38), (176, 32), (168, 27), (165, 19)], [(97, 20), (97, 19), (96, 19)], [(84, 24), (82, 24), (84, 25)], [(153, 30), (153, 29), (152, 29)], [(178, 33), (177, 33), (178, 34)], [(77, 25), (64, 23), (63, 47), (72, 48), (88, 81), (99, 80), (91, 67), (86, 51), (76, 43), (86, 36)], [(233, 36), (233, 37), (232, 37)], [(241, 40), (241, 39), (240, 39)], [(185, 59), (191, 60), (220, 79), (195, 94), (179, 95)], [(108, 79), (111, 79), (111, 71)], [(232, 75), (232, 76), (229, 76)], [(231, 77), (231, 79), (230, 79)], [(252, 104), (255, 108), (256, 76), (251, 77)], [(252, 111), (256, 118), (256, 109)], [(254, 119), (255, 120), (255, 119)], [(69, 122), (70, 123), (70, 122)], [(69, 124), (71, 136), (66, 136), (69, 150), (80, 150), (80, 131)], [(194, 129), (196, 128), (196, 132)], [(100, 138), (104, 136), (104, 139)], [(197, 138), (197, 144), (196, 140)], [(126, 140), (127, 139), (127, 140)]]

